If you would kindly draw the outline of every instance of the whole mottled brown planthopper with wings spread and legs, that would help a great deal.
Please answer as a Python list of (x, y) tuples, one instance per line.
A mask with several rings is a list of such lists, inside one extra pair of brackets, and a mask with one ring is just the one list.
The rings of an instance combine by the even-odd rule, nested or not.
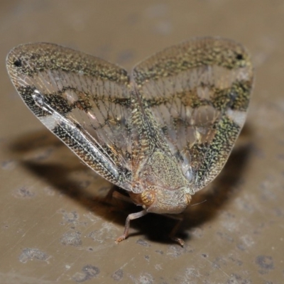
[[(246, 119), (253, 67), (224, 38), (194, 38), (126, 70), (51, 43), (6, 60), (29, 109), (85, 164), (129, 194), (141, 212), (182, 220), (192, 195), (222, 170)], [(183, 245), (175, 236), (170, 236)]]

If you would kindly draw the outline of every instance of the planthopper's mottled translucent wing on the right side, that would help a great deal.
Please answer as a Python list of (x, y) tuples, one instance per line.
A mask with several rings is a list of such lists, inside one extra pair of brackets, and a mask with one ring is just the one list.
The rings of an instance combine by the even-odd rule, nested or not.
[(222, 170), (246, 119), (253, 84), (246, 50), (196, 38), (141, 62), (132, 76), (145, 115), (201, 190)]

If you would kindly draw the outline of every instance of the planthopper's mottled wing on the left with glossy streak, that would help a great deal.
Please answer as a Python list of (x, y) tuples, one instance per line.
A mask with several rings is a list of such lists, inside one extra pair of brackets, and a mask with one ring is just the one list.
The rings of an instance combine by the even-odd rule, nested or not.
[(109, 62), (50, 43), (20, 45), (7, 57), (23, 101), (84, 163), (130, 190), (129, 76)]

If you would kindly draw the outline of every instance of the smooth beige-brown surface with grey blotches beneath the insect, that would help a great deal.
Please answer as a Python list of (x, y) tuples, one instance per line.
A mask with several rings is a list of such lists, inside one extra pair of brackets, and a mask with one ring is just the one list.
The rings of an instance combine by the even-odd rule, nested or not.
[[(1, 1), (0, 283), (284, 283), (284, 2)], [(256, 84), (243, 146), (173, 220), (99, 201), (111, 186), (88, 170), (24, 106), (5, 58), (20, 43), (60, 43), (136, 62), (195, 36), (243, 43)]]

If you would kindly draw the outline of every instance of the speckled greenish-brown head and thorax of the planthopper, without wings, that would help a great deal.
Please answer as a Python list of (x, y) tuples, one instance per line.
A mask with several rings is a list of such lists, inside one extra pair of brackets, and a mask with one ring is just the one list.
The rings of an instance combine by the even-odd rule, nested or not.
[(178, 214), (190, 203), (192, 190), (175, 158), (163, 151), (155, 151), (134, 176), (133, 183), (140, 187), (138, 194), (131, 193), (134, 203), (148, 212)]

